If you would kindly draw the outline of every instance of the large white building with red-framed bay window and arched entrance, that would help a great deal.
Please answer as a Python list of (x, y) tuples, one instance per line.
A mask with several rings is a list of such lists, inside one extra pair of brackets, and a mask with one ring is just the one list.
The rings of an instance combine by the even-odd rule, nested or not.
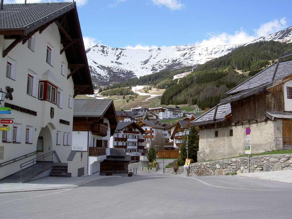
[(76, 3), (4, 4), (0, 20), (1, 106), (11, 108), (1, 119), (13, 120), (0, 125), (10, 127), (0, 133), (1, 179), (49, 152), (67, 163), (73, 98), (93, 87)]

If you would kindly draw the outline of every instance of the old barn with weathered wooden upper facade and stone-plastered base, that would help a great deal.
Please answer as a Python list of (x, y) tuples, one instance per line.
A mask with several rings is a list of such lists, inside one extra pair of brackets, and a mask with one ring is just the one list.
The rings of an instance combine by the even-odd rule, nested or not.
[(229, 97), (192, 122), (199, 126), (198, 161), (245, 154), (250, 127), (252, 153), (292, 145), (291, 51), (242, 84)]

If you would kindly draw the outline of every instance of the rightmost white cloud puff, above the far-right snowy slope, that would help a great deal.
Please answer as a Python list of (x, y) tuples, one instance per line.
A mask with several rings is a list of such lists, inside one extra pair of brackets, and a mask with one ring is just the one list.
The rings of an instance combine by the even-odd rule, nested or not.
[(280, 20), (273, 20), (260, 25), (260, 28), (255, 29), (256, 37), (260, 38), (262, 36), (269, 35), (271, 33), (278, 32), (286, 28), (286, 18), (281, 18)]

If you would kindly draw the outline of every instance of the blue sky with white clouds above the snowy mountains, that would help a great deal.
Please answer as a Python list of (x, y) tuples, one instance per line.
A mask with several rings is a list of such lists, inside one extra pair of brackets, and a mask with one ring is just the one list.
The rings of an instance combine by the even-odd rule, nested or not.
[[(4, 4), (24, 1), (4, 0)], [(75, 1), (85, 46), (239, 44), (292, 26), (290, 0)]]

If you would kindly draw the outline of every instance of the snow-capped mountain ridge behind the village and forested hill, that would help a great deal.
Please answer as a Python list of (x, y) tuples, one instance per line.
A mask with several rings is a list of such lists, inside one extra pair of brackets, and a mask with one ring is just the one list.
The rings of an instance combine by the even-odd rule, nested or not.
[[(292, 26), (247, 44), (269, 40), (291, 42)], [(169, 46), (149, 50), (112, 48), (97, 44), (86, 50), (86, 55), (93, 83), (107, 85), (161, 70), (175, 70), (204, 64), (208, 60), (226, 55), (233, 49), (247, 44)]]

